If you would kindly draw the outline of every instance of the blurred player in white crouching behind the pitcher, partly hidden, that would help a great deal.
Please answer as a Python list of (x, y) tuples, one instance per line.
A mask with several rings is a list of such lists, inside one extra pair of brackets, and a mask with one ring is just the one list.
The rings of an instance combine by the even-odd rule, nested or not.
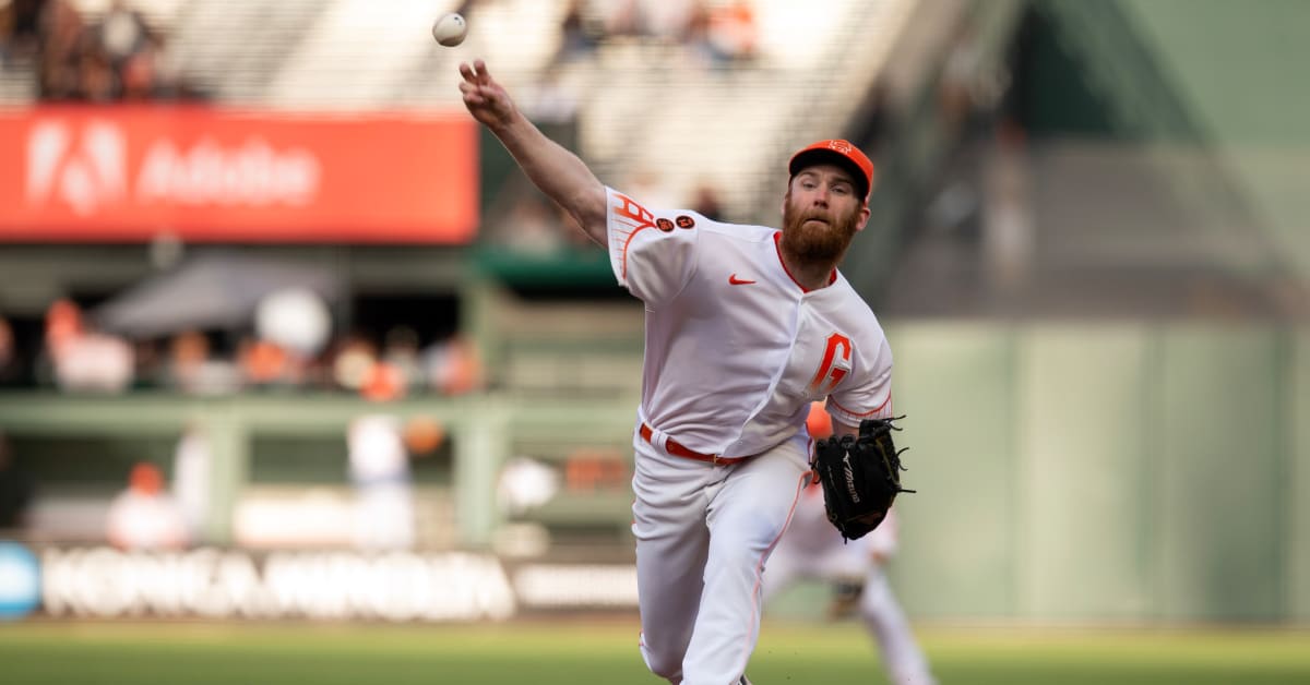
[[(832, 419), (823, 402), (811, 405), (806, 424), (816, 440), (832, 435)], [(889, 511), (872, 533), (848, 542), (828, 523), (823, 489), (811, 485), (796, 503), (791, 525), (765, 567), (765, 602), (802, 579), (831, 583), (834, 591), (832, 616), (836, 618), (858, 609), (865, 626), (878, 640), (883, 668), (891, 682), (934, 685), (937, 680), (883, 570), (896, 553), (896, 509)]]

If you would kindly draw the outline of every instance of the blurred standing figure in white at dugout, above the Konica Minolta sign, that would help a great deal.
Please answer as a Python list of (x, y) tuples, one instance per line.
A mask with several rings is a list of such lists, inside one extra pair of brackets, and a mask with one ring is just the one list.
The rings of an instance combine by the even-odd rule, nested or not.
[(355, 544), (362, 549), (414, 546), (414, 499), (409, 454), (396, 417), (359, 417), (347, 430), (350, 479), (355, 483)]

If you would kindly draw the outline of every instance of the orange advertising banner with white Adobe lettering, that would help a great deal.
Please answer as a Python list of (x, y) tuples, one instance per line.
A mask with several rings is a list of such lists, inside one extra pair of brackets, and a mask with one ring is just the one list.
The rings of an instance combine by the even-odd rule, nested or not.
[(469, 242), (465, 115), (0, 110), (0, 241)]

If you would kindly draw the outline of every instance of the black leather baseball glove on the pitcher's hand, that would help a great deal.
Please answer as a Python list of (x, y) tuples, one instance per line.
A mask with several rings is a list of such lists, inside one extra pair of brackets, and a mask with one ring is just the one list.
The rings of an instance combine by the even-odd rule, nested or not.
[(878, 528), (896, 495), (913, 492), (900, 486), (900, 452), (892, 443), (892, 431), (900, 430), (892, 422), (903, 418), (865, 419), (858, 437), (832, 436), (815, 444), (810, 466), (823, 483), (828, 520), (846, 540)]

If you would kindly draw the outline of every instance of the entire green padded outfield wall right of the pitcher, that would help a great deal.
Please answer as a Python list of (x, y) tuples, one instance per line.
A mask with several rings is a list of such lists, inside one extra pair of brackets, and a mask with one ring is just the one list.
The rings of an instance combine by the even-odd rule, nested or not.
[[(1306, 621), (1303, 330), (903, 325), (921, 614)], [(917, 454), (914, 454), (917, 452)]]

